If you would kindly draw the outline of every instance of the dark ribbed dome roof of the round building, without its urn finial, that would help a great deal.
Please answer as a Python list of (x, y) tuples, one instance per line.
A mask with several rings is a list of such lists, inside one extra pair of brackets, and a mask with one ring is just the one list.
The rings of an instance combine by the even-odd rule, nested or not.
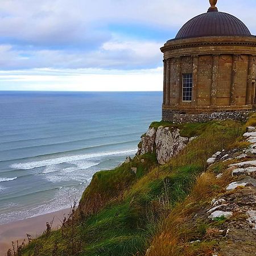
[(180, 28), (175, 39), (200, 36), (250, 36), (240, 19), (228, 13), (209, 11), (189, 20)]

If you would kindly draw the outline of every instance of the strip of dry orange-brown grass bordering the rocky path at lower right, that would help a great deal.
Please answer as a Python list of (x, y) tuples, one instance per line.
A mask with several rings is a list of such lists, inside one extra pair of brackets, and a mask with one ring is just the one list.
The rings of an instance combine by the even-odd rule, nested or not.
[(189, 242), (199, 236), (197, 224), (192, 218), (201, 208), (209, 205), (212, 198), (222, 191), (230, 179), (230, 174), (224, 174), (221, 179), (217, 179), (210, 172), (200, 175), (187, 199), (177, 204), (163, 221), (162, 230), (155, 236), (147, 256), (211, 255), (213, 251), (210, 238), (217, 230), (206, 229), (204, 238), (208, 238), (209, 241), (200, 243), (200, 246), (192, 245)]

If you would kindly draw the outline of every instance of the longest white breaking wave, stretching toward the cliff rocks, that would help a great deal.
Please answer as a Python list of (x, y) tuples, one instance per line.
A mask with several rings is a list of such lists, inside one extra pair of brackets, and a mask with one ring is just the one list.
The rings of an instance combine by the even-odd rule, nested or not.
[(101, 152), (101, 153), (85, 154), (85, 155), (63, 156), (61, 158), (53, 158), (53, 159), (47, 159), (42, 161), (30, 162), (30, 163), (11, 164), (10, 167), (14, 169), (20, 169), (20, 170), (30, 170), (38, 167), (52, 166), (54, 164), (72, 163), (77, 160), (85, 160), (89, 158), (98, 158), (98, 157), (109, 156), (109, 155), (133, 154), (136, 151), (137, 150), (124, 150), (124, 151)]

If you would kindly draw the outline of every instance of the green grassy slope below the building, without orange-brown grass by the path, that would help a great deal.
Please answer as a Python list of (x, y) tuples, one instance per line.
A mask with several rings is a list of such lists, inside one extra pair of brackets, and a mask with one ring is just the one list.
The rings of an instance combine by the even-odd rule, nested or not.
[(164, 166), (157, 166), (154, 155), (144, 155), (113, 171), (98, 172), (82, 196), (76, 217), (62, 230), (32, 241), (22, 255), (144, 255), (159, 242), (156, 234), (166, 225), (164, 220), (187, 200), (207, 158), (236, 145), (243, 132), (242, 123), (234, 121), (179, 128), (183, 135), (200, 136)]

